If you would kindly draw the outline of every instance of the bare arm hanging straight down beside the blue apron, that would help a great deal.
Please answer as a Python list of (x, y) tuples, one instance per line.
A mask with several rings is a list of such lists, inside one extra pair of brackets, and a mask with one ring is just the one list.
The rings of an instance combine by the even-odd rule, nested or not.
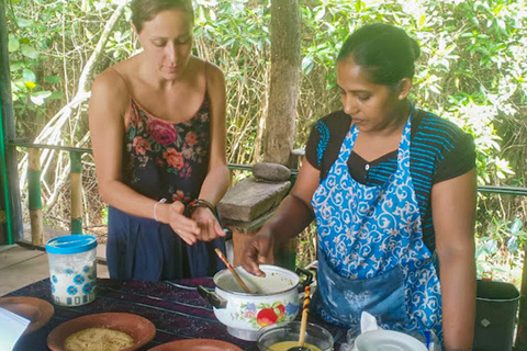
[(475, 314), (475, 169), (437, 183), (431, 189), (447, 351), (472, 349)]

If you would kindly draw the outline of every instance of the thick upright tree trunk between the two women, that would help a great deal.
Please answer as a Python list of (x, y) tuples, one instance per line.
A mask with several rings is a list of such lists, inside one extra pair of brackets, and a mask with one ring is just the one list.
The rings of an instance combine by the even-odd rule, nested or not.
[(271, 82), (266, 162), (290, 166), (300, 86), (299, 0), (271, 0)]

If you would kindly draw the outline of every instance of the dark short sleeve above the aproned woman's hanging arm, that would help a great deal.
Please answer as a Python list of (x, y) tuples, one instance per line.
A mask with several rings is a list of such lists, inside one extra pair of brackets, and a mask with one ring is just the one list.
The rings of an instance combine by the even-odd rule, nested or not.
[(475, 146), (473, 137), (457, 129), (453, 147), (444, 150), (442, 158), (437, 163), (433, 183), (439, 183), (469, 172), (475, 167)]

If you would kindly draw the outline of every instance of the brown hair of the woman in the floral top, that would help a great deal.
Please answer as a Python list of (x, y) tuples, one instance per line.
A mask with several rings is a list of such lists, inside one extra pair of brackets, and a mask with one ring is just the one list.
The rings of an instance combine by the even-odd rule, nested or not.
[(194, 9), (191, 0), (133, 0), (130, 8), (132, 9), (132, 23), (137, 33), (141, 33), (145, 22), (152, 21), (165, 10), (180, 10), (189, 14), (192, 23), (194, 22)]

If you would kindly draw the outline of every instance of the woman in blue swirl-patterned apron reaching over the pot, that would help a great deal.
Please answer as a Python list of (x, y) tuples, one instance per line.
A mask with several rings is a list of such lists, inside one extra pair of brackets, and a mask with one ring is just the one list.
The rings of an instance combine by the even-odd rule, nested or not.
[(317, 288), (325, 321), (434, 331), (470, 350), (474, 324), (475, 154), (452, 123), (412, 105), (415, 41), (386, 24), (344, 44), (344, 110), (313, 127), (295, 185), (248, 244), (244, 267), (316, 219)]

